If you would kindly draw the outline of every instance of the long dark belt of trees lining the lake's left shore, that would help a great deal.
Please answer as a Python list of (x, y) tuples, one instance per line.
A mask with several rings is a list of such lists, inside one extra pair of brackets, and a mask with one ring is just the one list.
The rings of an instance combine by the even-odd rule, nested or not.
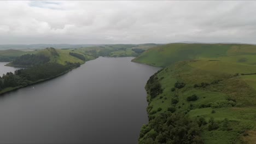
[(45, 63), (27, 69), (15, 70), (0, 77), (0, 91), (7, 87), (24, 87), (39, 80), (51, 79), (65, 71), (79, 67), (80, 63)]

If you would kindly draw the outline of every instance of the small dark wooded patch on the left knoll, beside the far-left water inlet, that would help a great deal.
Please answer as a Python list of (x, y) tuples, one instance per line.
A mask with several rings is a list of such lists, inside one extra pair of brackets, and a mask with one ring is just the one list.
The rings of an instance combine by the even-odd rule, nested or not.
[(23, 67), (32, 67), (34, 65), (40, 65), (44, 64), (50, 61), (49, 57), (46, 57), (45, 55), (22, 55), (20, 57), (17, 57), (11, 64), (13, 65), (20, 65)]

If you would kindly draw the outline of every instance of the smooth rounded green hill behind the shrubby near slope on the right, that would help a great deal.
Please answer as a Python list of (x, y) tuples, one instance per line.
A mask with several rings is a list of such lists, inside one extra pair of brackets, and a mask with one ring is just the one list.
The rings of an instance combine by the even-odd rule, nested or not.
[[(243, 55), (246, 56), (236, 56)], [(247, 57), (251, 55), (251, 57)], [(255, 63), (255, 45), (244, 44), (167, 44), (153, 47), (133, 59), (133, 62), (166, 67), (189, 59), (218, 59), (230, 62)], [(229, 57), (226, 57), (229, 56)]]

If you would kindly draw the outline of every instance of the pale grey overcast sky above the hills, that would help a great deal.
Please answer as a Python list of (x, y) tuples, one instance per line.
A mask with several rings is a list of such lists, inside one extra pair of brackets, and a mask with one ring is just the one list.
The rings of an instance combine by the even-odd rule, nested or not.
[(0, 1), (0, 44), (256, 43), (256, 1)]

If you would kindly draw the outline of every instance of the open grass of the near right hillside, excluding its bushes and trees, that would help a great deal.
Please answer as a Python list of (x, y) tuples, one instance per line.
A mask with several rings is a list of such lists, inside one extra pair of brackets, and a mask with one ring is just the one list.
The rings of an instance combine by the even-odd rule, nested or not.
[[(216, 65), (216, 63), (209, 61), (179, 62), (174, 67), (165, 68), (158, 74), (159, 78), (164, 77), (160, 80), (164, 92), (154, 98), (149, 106), (153, 106), (152, 111), (156, 111), (159, 107), (161, 107), (162, 111), (167, 111), (167, 108), (172, 105), (171, 99), (177, 98), (178, 95), (179, 102), (175, 107), (179, 113), (188, 112), (187, 115), (191, 118), (202, 116), (207, 121), (210, 117), (214, 117), (219, 122), (223, 121), (224, 118), (228, 118), (231, 121), (232, 130), (230, 131), (223, 131), (221, 127), (213, 131), (208, 131), (207, 128), (204, 128), (202, 139), (205, 143), (231, 143), (234, 141), (239, 143), (239, 140), (243, 139), (243, 134), (246, 130), (256, 129), (256, 91), (253, 88), (255, 86), (254, 83), (250, 85), (250, 83), (243, 81), (246, 76), (234, 76), (234, 74), (238, 72), (250, 73), (252, 70), (256, 71), (256, 67), (253, 65), (247, 67), (248, 65), (241, 64), (229, 65), (224, 62), (217, 63)], [(208, 67), (201, 67), (201, 64), (205, 64)], [(224, 67), (226, 70), (221, 71), (220, 69)], [(229, 70), (229, 68), (232, 70)], [(218, 79), (223, 81), (205, 88), (193, 87), (201, 82), (211, 83)], [(186, 86), (181, 89), (176, 88), (176, 91), (172, 92), (171, 88), (174, 87), (176, 81), (183, 81)], [(199, 100), (188, 102), (187, 97), (192, 94), (196, 94)], [(201, 104), (221, 103), (227, 98), (236, 99), (236, 106), (200, 108)], [(193, 105), (193, 107), (190, 105)], [(211, 113), (213, 109), (216, 113)], [(255, 136), (251, 135), (251, 137)], [(217, 139), (217, 137), (221, 137), (221, 139)]]

